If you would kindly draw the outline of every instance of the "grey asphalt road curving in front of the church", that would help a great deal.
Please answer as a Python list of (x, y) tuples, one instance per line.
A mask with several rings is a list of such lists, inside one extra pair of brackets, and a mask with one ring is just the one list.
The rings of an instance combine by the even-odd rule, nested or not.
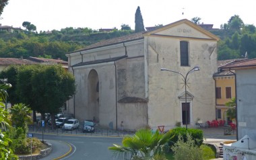
[[(34, 134), (42, 140), (42, 134)], [(42, 158), (49, 159), (94, 159), (116, 160), (108, 147), (113, 144), (121, 145), (123, 137), (99, 136), (67, 136), (44, 134), (44, 141), (53, 145), (50, 155)], [(62, 157), (65, 155), (65, 157)]]

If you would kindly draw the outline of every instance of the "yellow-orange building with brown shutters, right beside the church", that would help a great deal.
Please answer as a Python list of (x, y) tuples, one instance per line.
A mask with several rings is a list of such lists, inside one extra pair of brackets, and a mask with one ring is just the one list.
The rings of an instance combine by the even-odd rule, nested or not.
[(232, 119), (227, 116), (226, 112), (234, 106), (225, 106), (225, 104), (230, 102), (232, 97), (236, 97), (236, 89), (234, 71), (222, 69), (222, 67), (245, 60), (247, 58), (218, 61), (218, 73), (214, 74), (216, 85), (216, 120), (224, 120), (226, 125), (232, 122)]

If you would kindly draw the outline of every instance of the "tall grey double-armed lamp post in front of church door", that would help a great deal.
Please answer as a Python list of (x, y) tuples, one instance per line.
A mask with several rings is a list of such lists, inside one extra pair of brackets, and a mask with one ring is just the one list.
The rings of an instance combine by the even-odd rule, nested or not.
[(189, 73), (192, 73), (193, 71), (199, 71), (199, 67), (195, 66), (193, 69), (189, 70), (186, 74), (186, 76), (184, 76), (182, 73), (177, 72), (177, 71), (171, 71), (169, 69), (161, 69), (161, 71), (169, 71), (172, 73), (178, 73), (179, 75), (181, 75), (183, 77), (183, 81), (185, 83), (185, 118), (186, 118), (186, 130), (187, 130), (187, 122), (188, 122), (188, 116), (187, 116), (187, 112), (188, 112), (188, 108), (187, 108), (187, 76), (189, 75)]

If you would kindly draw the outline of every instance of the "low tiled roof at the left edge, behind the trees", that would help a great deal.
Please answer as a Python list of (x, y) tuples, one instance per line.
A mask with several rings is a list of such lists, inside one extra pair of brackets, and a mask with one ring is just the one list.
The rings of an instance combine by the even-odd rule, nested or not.
[(0, 58), (0, 65), (33, 65), (34, 61), (21, 58)]

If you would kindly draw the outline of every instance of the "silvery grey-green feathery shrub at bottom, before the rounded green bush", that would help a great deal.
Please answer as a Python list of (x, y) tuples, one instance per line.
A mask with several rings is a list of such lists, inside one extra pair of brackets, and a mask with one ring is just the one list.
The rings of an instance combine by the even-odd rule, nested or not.
[(171, 147), (174, 152), (174, 159), (202, 160), (203, 151), (195, 145), (195, 141), (189, 133), (187, 133), (186, 138), (187, 141), (185, 142), (180, 134), (177, 143)]

